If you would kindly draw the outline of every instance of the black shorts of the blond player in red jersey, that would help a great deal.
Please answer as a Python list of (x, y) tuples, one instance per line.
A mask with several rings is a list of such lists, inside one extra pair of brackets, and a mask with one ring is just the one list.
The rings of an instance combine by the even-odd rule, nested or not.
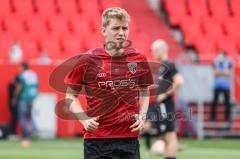
[(84, 159), (140, 159), (138, 139), (85, 139)]

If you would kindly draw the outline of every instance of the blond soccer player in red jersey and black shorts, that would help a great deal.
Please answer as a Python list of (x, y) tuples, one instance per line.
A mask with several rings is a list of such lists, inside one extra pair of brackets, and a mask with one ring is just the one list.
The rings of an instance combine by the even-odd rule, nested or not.
[[(65, 78), (66, 102), (84, 127), (84, 158), (139, 159), (153, 83), (146, 57), (130, 47), (129, 14), (122, 8), (102, 14), (105, 45), (79, 56)], [(85, 89), (87, 110), (78, 100)]]

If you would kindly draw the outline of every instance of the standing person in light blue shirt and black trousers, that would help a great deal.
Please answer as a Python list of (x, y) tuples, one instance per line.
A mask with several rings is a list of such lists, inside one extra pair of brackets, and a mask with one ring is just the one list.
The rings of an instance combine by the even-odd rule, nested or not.
[(230, 110), (230, 93), (231, 93), (231, 75), (232, 75), (232, 61), (227, 58), (225, 52), (219, 52), (213, 63), (214, 69), (214, 97), (212, 102), (211, 120), (216, 119), (216, 106), (218, 104), (220, 94), (224, 95), (225, 104), (225, 119), (231, 119)]

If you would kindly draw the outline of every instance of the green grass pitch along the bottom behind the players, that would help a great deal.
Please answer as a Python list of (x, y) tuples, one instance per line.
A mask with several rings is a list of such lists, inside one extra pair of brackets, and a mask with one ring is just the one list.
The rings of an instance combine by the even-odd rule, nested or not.
[[(240, 139), (182, 139), (187, 149), (180, 152), (178, 159), (239, 159)], [(143, 140), (142, 159), (159, 159), (147, 153)], [(19, 141), (0, 140), (0, 159), (83, 159), (82, 139), (37, 140), (30, 148), (20, 147)]]

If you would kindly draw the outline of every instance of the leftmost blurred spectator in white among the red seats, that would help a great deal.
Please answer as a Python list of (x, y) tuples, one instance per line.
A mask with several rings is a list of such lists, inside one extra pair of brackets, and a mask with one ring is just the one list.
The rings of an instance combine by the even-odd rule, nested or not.
[(17, 41), (14, 41), (12, 48), (9, 51), (9, 62), (20, 63), (23, 60), (23, 52)]

